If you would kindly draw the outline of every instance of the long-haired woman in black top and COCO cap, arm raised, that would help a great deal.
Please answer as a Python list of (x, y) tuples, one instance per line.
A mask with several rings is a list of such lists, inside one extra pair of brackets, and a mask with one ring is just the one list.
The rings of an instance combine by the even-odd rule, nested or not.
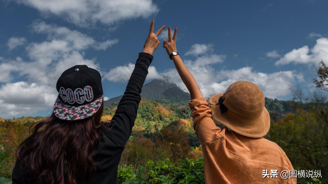
[(86, 65), (73, 66), (60, 76), (53, 113), (31, 127), (18, 147), (12, 182), (78, 184), (117, 183), (117, 167), (128, 141), (140, 102), (141, 87), (159, 45), (154, 20), (135, 63), (124, 95), (109, 123), (103, 112), (101, 76)]

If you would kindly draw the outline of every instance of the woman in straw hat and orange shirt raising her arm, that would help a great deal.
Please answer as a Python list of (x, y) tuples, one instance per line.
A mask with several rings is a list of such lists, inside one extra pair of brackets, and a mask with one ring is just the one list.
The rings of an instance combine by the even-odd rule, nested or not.
[(294, 169), (284, 151), (263, 138), (270, 128), (270, 116), (261, 89), (254, 83), (238, 81), (207, 103), (177, 53), (177, 28), (173, 38), (168, 29), (169, 40), (164, 40), (163, 47), (190, 92), (191, 116), (203, 149), (205, 182), (296, 183), (294, 176), (286, 177), (286, 171)]

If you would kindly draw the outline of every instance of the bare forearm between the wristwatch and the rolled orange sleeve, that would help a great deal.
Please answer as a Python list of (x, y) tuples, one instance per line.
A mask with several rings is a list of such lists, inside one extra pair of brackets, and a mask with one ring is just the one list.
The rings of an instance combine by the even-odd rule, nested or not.
[(176, 70), (178, 71), (178, 73), (182, 79), (182, 82), (186, 85), (186, 87), (190, 93), (191, 99), (193, 100), (196, 98), (203, 97), (195, 78), (190, 73), (188, 68), (183, 64), (180, 56), (176, 55), (176, 56), (172, 57), (172, 59), (173, 59), (174, 65), (176, 67)]

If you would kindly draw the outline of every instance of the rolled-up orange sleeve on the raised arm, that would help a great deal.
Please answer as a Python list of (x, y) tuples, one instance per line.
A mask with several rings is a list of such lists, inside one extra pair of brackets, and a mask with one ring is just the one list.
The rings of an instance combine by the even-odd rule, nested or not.
[(194, 121), (194, 130), (201, 144), (213, 140), (216, 132), (221, 128), (217, 126), (211, 114), (211, 108), (204, 97), (189, 101), (191, 116)]

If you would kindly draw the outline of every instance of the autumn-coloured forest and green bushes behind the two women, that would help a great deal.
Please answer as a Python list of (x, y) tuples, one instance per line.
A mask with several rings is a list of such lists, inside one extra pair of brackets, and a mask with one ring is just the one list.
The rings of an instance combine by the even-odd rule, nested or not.
[[(272, 117), (266, 138), (276, 142), (296, 170), (321, 170), (328, 177), (328, 108), (320, 95), (298, 100), (266, 98)], [(297, 102), (295, 102), (297, 101)], [(110, 120), (117, 103), (104, 109)], [(10, 182), (15, 149), (42, 117), (0, 119), (0, 183)], [(130, 140), (123, 152), (119, 183), (204, 183), (202, 150), (192, 128), (188, 101), (180, 98), (142, 99)], [(322, 179), (320, 178), (320, 179)], [(324, 183), (306, 178), (298, 183)]]

